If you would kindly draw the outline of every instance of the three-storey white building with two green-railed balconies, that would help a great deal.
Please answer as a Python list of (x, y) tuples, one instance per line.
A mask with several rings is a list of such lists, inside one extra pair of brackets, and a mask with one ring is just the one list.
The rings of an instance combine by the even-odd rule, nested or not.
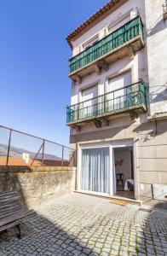
[(166, 200), (166, 19), (165, 0), (112, 0), (67, 36), (76, 189)]

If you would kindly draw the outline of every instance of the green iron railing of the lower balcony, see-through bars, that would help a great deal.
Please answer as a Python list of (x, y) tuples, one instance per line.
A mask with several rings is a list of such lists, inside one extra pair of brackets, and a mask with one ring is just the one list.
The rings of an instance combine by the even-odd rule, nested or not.
[(75, 123), (85, 119), (130, 110), (132, 107), (147, 108), (147, 86), (142, 80), (135, 84), (112, 90), (101, 96), (66, 108), (66, 123)]

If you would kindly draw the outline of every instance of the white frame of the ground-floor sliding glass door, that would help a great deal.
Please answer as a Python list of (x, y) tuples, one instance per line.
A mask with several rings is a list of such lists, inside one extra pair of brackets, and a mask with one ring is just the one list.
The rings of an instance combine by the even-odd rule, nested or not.
[[(109, 148), (109, 194), (104, 194), (100, 192), (95, 192), (95, 191), (88, 191), (88, 190), (83, 190), (80, 189), (80, 174), (81, 174), (81, 168), (82, 168), (82, 149), (83, 148), (104, 148), (107, 147)], [(89, 194), (94, 194), (94, 195), (114, 195), (114, 189), (113, 186), (115, 185), (116, 189), (116, 183), (114, 184), (113, 182), (113, 175), (112, 172), (115, 172), (115, 161), (114, 161), (114, 148), (128, 148), (132, 147), (133, 148), (133, 156), (134, 156), (134, 142), (133, 140), (121, 140), (117, 142), (103, 142), (103, 143), (79, 143), (78, 144), (78, 165), (77, 165), (77, 190)], [(133, 157), (133, 160), (135, 158)], [(134, 192), (135, 192), (135, 169), (134, 169)]]

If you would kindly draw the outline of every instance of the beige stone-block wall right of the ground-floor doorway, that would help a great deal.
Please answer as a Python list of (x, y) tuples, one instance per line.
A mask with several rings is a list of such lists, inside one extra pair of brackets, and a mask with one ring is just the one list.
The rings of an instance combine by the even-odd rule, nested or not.
[(139, 199), (156, 205), (159, 201), (153, 200), (153, 184), (167, 185), (167, 120), (152, 125), (153, 132), (141, 131), (136, 137), (136, 167)]

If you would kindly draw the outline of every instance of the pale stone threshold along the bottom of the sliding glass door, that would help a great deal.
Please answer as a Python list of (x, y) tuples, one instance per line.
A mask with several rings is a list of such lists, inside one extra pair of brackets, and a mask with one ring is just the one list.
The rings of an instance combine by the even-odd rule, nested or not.
[(84, 195), (92, 195), (92, 196), (96, 196), (96, 197), (101, 197), (101, 198), (106, 198), (106, 199), (114, 199), (114, 200), (118, 200), (118, 201), (127, 201), (130, 204), (134, 204), (134, 205), (138, 205), (139, 207), (141, 207), (142, 205), (142, 201), (138, 201), (135, 199), (130, 199), (127, 197), (122, 197), (122, 196), (118, 196), (118, 195), (107, 195), (107, 194), (101, 194), (98, 192), (92, 192), (92, 191), (83, 191), (83, 190), (74, 190), (74, 193), (79, 193), (79, 194), (84, 194)]

